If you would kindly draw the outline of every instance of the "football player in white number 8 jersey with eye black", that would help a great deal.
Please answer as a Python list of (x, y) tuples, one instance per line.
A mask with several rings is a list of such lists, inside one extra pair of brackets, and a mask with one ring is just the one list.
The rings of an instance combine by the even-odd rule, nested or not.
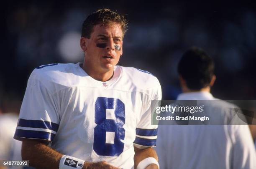
[(109, 9), (82, 25), (84, 63), (37, 67), (28, 79), (15, 139), (38, 169), (157, 169), (157, 126), (151, 100), (161, 100), (155, 76), (116, 66), (127, 22)]

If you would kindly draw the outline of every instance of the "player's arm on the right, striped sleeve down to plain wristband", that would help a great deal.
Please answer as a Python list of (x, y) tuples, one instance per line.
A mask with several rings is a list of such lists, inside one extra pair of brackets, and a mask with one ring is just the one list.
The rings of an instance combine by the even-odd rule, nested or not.
[[(134, 168), (135, 169), (159, 169), (158, 156), (152, 148), (156, 146), (157, 126), (151, 126), (151, 100), (161, 100), (161, 86), (156, 79), (156, 88), (152, 89), (151, 96), (144, 98), (142, 115), (136, 128), (134, 145)], [(155, 102), (154, 104), (156, 104)]]

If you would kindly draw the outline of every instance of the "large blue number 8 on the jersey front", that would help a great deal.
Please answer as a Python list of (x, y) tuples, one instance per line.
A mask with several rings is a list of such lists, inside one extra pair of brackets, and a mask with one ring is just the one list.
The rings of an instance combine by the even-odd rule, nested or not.
[(98, 97), (95, 102), (93, 150), (100, 156), (119, 156), (123, 152), (125, 105), (118, 98)]

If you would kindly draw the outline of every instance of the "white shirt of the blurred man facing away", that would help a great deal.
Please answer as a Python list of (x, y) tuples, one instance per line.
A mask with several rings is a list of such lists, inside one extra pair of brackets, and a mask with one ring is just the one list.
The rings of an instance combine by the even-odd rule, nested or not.
[[(218, 100), (208, 92), (177, 100)], [(156, 151), (161, 169), (256, 169), (248, 126), (159, 126)]]

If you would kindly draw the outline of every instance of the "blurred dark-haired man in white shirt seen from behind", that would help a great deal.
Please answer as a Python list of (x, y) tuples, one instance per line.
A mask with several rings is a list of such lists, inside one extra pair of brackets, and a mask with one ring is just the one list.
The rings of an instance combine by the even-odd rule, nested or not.
[[(179, 61), (178, 73), (183, 93), (177, 100), (218, 100), (210, 93), (216, 77), (212, 58), (205, 51), (196, 47), (187, 50)], [(223, 108), (228, 104), (223, 101)], [(221, 120), (232, 118), (228, 111), (223, 111)], [(256, 168), (248, 125), (159, 125), (156, 151), (161, 169)]]

